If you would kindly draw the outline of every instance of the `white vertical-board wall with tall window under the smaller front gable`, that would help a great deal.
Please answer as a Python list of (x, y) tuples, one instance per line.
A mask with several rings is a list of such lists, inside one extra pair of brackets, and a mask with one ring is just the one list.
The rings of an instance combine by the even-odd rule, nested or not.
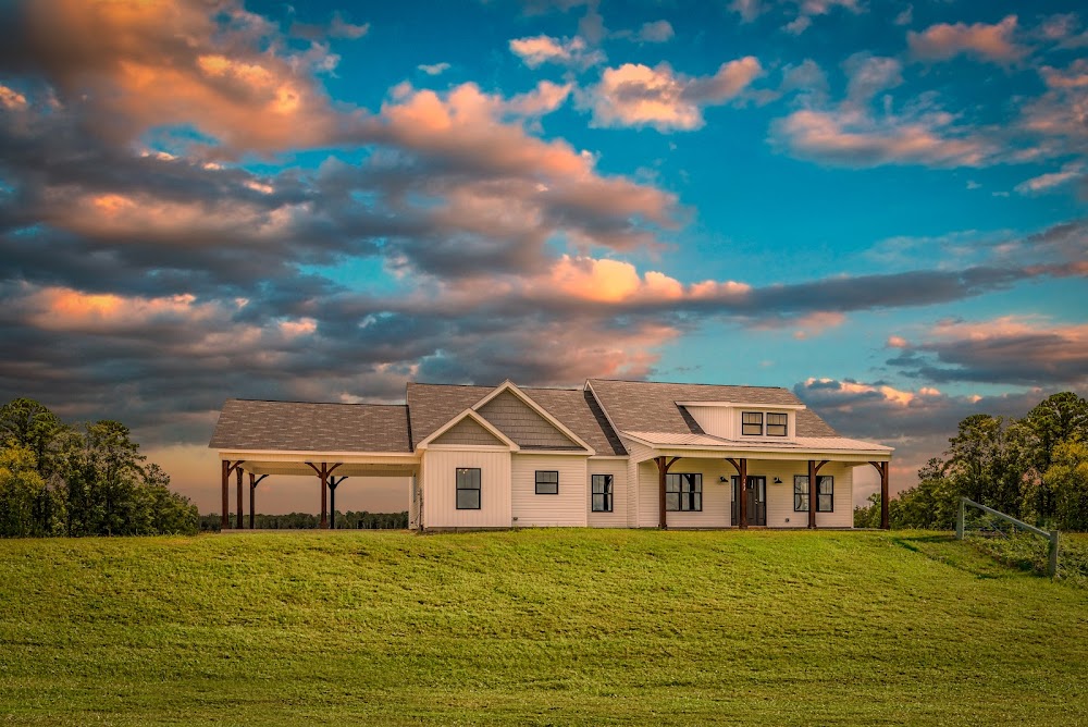
[[(480, 469), (480, 509), (457, 509), (457, 469)], [(509, 528), (510, 452), (429, 447), (422, 457), (424, 528)]]

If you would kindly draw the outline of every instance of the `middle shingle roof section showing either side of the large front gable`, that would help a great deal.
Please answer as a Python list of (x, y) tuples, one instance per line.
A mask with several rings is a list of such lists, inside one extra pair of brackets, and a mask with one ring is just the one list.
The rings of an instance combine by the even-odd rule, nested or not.
[[(589, 444), (598, 455), (623, 455), (627, 451), (608, 426), (596, 402), (580, 389), (520, 387), (545, 411)], [(455, 416), (494, 391), (494, 386), (408, 384), (413, 442), (422, 442)]]

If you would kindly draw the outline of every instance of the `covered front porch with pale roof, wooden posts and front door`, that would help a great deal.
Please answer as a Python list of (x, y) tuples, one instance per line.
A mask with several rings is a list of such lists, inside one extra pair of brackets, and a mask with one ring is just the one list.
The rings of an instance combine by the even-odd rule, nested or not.
[(697, 434), (632, 440), (638, 527), (852, 528), (854, 470), (873, 467), (888, 528), (889, 447), (850, 440), (850, 449), (738, 446)]

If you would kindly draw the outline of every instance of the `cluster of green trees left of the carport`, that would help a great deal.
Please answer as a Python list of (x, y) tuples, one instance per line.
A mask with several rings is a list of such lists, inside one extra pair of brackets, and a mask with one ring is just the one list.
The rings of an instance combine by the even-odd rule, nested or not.
[(121, 422), (71, 426), (30, 398), (0, 407), (0, 537), (191, 534), (198, 516)]

